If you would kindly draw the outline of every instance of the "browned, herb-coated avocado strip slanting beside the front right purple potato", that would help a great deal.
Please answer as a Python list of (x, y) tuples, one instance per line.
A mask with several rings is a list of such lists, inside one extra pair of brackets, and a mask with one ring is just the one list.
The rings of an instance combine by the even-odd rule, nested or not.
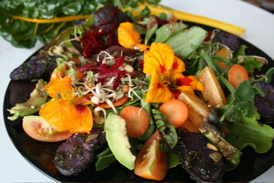
[(242, 152), (237, 150), (233, 145), (221, 137), (221, 134), (218, 134), (212, 125), (204, 122), (203, 125), (199, 128), (200, 132), (204, 134), (209, 141), (211, 141), (214, 146), (222, 153), (223, 157), (228, 160), (234, 166), (240, 162), (240, 156)]

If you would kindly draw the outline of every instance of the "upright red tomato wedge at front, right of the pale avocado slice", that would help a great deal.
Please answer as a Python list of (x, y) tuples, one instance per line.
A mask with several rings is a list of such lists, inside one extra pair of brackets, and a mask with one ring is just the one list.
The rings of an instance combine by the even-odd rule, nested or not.
[(159, 150), (158, 130), (138, 153), (134, 173), (145, 179), (162, 180), (167, 175), (167, 153)]

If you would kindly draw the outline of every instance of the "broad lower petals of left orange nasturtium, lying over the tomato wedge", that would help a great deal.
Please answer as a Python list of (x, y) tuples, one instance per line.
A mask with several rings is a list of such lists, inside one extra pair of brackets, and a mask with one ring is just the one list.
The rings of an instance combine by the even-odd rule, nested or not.
[(71, 101), (63, 99), (48, 101), (40, 109), (39, 115), (58, 132), (89, 133), (93, 126), (91, 110), (81, 104), (79, 97)]

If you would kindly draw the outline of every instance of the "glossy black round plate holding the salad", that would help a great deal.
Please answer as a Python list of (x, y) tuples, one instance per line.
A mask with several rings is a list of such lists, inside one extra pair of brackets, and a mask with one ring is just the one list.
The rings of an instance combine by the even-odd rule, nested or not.
[[(187, 23), (188, 25), (197, 25), (194, 23)], [(212, 30), (212, 27), (199, 25), (206, 30)], [(263, 51), (258, 49), (256, 46), (250, 44), (249, 42), (240, 39), (241, 44), (248, 46), (247, 54), (262, 56), (266, 58), (269, 63), (264, 65), (261, 70), (261, 74), (264, 74), (266, 70), (274, 67), (274, 61), (266, 55)], [(35, 55), (35, 53), (34, 53)], [(28, 58), (29, 59), (29, 58)], [(149, 182), (150, 180), (143, 179), (133, 174), (132, 171), (127, 170), (119, 163), (113, 163), (110, 168), (103, 171), (96, 172), (94, 165), (88, 170), (79, 173), (77, 176), (66, 177), (61, 175), (56, 169), (53, 158), (59, 143), (46, 143), (42, 141), (36, 141), (31, 139), (27, 134), (25, 134), (22, 129), (22, 118), (11, 122), (7, 119), (10, 115), (6, 109), (11, 108), (11, 103), (9, 102), (10, 97), (10, 87), (11, 83), (8, 85), (6, 90), (6, 95), (4, 99), (4, 121), (6, 125), (6, 130), (8, 132), (11, 141), (22, 156), (31, 163), (35, 168), (43, 172), (51, 179), (60, 182)], [(267, 153), (255, 153), (254, 149), (246, 147), (242, 150), (243, 155), (240, 164), (230, 172), (226, 172), (223, 177), (224, 182), (249, 182), (262, 175), (269, 168), (274, 165), (274, 147), (272, 147)], [(153, 181), (155, 182), (155, 181)], [(169, 169), (167, 176), (162, 180), (162, 182), (192, 182), (189, 175), (181, 166), (177, 168)]]

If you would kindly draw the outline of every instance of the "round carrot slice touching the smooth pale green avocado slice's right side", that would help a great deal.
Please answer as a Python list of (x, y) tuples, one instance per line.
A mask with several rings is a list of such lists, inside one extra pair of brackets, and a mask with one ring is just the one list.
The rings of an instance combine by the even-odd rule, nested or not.
[(120, 113), (121, 117), (126, 120), (126, 134), (130, 138), (141, 137), (150, 125), (148, 113), (136, 106), (126, 106)]

